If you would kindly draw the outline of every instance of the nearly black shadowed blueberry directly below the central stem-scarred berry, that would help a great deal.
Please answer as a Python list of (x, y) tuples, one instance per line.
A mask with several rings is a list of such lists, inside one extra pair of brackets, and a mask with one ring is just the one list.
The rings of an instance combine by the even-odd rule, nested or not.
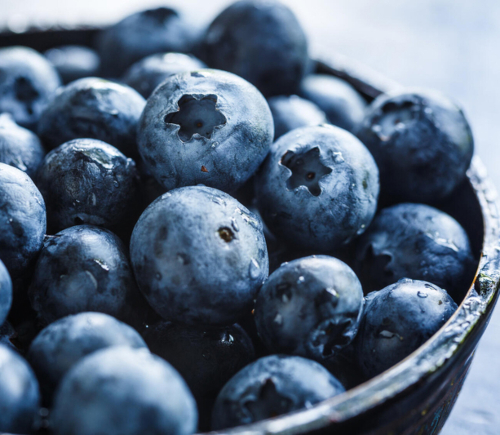
[(179, 371), (200, 412), (200, 429), (209, 429), (213, 401), (224, 384), (255, 359), (252, 341), (241, 326), (185, 326), (162, 321), (145, 329), (154, 354)]

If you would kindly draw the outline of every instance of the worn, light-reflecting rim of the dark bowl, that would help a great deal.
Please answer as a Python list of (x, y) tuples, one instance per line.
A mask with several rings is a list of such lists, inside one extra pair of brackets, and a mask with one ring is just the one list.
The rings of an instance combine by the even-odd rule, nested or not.
[[(344, 79), (368, 99), (401, 86), (342, 55), (316, 56), (323, 73)], [(345, 422), (430, 378), (453, 358), (469, 335), (488, 318), (498, 299), (500, 283), (500, 217), (495, 186), (474, 156), (467, 179), (479, 202), (483, 240), (479, 264), (469, 290), (451, 318), (422, 346), (380, 375), (314, 406), (272, 419), (211, 431), (210, 434), (302, 434)]]

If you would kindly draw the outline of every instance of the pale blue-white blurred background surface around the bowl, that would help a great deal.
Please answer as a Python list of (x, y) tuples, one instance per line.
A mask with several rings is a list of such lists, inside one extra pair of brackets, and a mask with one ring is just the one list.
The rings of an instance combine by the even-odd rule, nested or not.
[[(313, 51), (336, 52), (412, 87), (460, 103), (482, 158), (500, 187), (500, 1), (282, 0), (297, 14)], [(0, 0), (0, 29), (32, 24), (106, 25), (168, 5), (198, 26), (231, 0)], [(483, 336), (444, 435), (500, 433), (500, 309)]]

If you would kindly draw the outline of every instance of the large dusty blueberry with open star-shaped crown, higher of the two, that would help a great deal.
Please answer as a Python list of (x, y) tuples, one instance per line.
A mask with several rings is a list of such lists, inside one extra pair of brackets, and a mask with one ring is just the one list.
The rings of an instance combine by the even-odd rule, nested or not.
[(167, 190), (204, 184), (241, 187), (272, 144), (273, 118), (262, 94), (234, 74), (198, 70), (170, 77), (148, 99), (139, 152)]

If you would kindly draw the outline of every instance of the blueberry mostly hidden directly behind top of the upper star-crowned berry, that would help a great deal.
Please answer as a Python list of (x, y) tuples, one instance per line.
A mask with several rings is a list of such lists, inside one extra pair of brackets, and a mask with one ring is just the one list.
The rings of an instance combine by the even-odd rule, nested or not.
[(170, 76), (201, 68), (206, 65), (190, 54), (157, 53), (134, 63), (123, 76), (123, 82), (147, 99)]

